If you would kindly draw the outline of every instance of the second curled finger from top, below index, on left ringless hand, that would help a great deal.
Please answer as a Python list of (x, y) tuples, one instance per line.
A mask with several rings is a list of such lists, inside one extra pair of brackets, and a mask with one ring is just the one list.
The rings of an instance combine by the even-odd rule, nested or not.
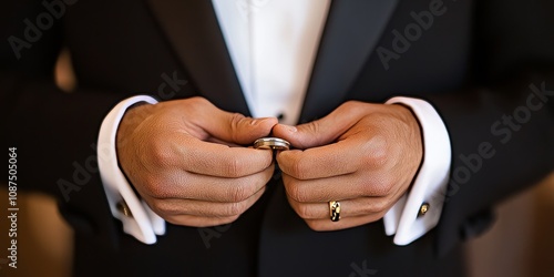
[(238, 203), (261, 189), (273, 176), (275, 166), (240, 178), (222, 178), (186, 172), (157, 173), (137, 186), (142, 195), (156, 199), (196, 199)]

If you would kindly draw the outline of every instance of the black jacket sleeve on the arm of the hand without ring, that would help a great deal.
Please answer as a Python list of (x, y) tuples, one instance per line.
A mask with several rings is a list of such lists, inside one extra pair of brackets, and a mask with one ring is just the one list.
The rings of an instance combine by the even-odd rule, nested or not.
[[(86, 89), (65, 93), (55, 85), (63, 18), (49, 13), (51, 24), (38, 22), (45, 11), (41, 1), (31, 0), (8, 1), (0, 11), (1, 145), (17, 147), (19, 191), (53, 195), (75, 228), (106, 232), (113, 223), (105, 220), (110, 211), (95, 143), (103, 117), (126, 95)], [(91, 205), (94, 214), (80, 214)]]

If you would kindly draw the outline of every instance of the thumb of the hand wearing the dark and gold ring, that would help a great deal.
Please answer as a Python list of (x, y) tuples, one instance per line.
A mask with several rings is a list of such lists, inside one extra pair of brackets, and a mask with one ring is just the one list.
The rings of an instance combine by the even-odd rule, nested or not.
[(353, 126), (365, 114), (370, 104), (347, 102), (327, 116), (296, 127), (277, 124), (273, 133), (300, 150), (311, 148), (335, 142), (341, 134)]

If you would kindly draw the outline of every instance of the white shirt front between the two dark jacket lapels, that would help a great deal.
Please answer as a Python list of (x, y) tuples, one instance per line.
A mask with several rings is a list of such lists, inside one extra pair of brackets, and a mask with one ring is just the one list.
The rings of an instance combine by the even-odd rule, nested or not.
[(330, 0), (213, 0), (254, 117), (295, 125)]

